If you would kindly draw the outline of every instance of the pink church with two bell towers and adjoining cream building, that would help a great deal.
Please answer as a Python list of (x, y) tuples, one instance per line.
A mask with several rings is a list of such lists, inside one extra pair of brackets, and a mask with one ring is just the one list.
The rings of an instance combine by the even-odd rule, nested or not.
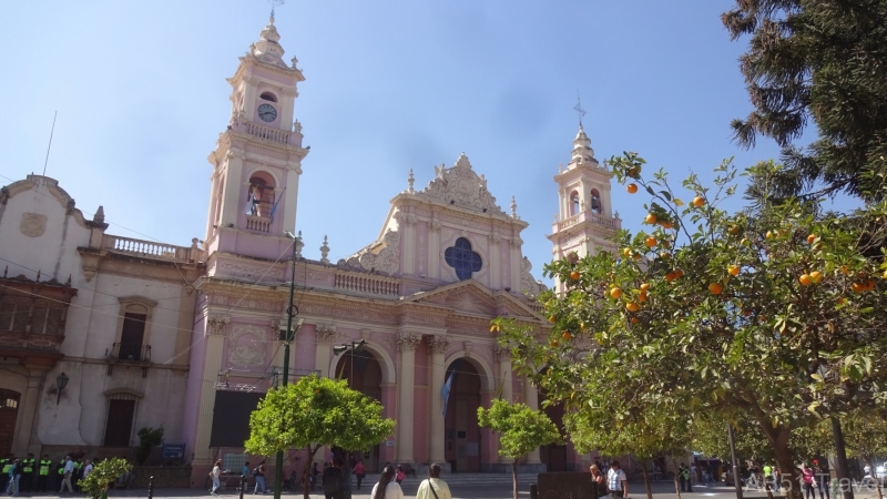
[[(397, 420), (386, 441), (355, 449), (368, 469), (385, 461), (507, 469), (477, 408), (498, 394), (538, 407), (540, 394), (513, 373), (489, 324), (506, 315), (548, 327), (514, 198), (497, 202), (462, 154), (436, 166), (425, 187), (410, 171), (376, 241), (336, 262), (326, 241), (319, 261), (303, 257), (296, 207), (308, 149), (294, 109), (304, 77), (295, 58), (284, 62), (279, 38), (272, 19), (227, 80), (231, 120), (208, 157), (200, 247), (108, 235), (101, 207), (85, 220), (51, 179), (4, 187), (0, 255), (10, 272), (0, 288), (0, 340), (9, 355), (0, 387), (18, 416), (14, 440), (0, 439), (0, 452), (125, 447), (139, 428), (163, 425), (167, 442), (185, 445), (195, 486), (216, 458), (236, 469), (249, 411), (281, 381), (292, 310), (302, 326), (289, 379), (343, 377)], [(606, 247), (620, 221), (610, 176), (581, 128), (554, 180), (554, 256)], [(337, 355), (337, 345), (350, 348)], [(69, 383), (59, 398), (62, 371)], [(287, 456), (287, 473), (304, 466), (297, 457)], [(583, 459), (550, 446), (524, 466), (574, 469)]]

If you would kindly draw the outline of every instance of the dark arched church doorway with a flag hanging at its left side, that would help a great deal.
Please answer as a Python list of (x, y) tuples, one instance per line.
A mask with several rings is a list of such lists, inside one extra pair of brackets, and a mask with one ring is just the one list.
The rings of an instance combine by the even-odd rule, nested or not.
[(452, 386), (443, 417), (443, 456), (453, 472), (480, 471), (480, 374), (465, 358), (447, 367)]

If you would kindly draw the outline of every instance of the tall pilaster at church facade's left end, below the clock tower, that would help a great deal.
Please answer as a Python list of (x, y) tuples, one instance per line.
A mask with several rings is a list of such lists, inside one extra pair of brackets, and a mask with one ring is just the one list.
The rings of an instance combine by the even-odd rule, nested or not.
[[(222, 350), (225, 345), (225, 328), (231, 320), (228, 316), (211, 315), (206, 317), (204, 335), (206, 336), (206, 358), (203, 361), (201, 379), (201, 406), (197, 419), (197, 436), (194, 444), (194, 460), (210, 464), (210, 431), (213, 428), (213, 409), (215, 408), (215, 384), (222, 370)], [(197, 366), (192, 366), (197, 367)], [(201, 462), (203, 461), (203, 462)]]

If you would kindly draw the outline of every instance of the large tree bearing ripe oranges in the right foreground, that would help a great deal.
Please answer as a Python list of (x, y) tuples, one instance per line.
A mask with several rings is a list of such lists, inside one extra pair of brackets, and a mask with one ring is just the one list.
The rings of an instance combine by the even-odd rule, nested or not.
[[(645, 179), (635, 153), (610, 160), (642, 187), (648, 228), (618, 234), (614, 253), (575, 254), (546, 267), (565, 288), (540, 295), (552, 323), (543, 342), (497, 319), (520, 368), (578, 421), (616, 435), (644, 414), (693, 419), (746, 411), (786, 478), (789, 436), (887, 394), (881, 252), (887, 205), (825, 213), (816, 203), (764, 197), (754, 211), (720, 207), (737, 171), (712, 187), (695, 175), (684, 202), (662, 171)], [(779, 166), (748, 174), (766, 184)], [(880, 179), (880, 185), (884, 185)], [(642, 192), (643, 192), (642, 191)], [(792, 493), (799, 493), (794, 490)]]

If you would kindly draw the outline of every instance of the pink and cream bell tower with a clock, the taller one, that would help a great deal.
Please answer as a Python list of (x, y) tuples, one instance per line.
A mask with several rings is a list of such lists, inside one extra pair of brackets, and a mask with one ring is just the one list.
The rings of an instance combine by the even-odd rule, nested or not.
[[(302, 160), (302, 124), (294, 120), (297, 84), (305, 80), (283, 60), (272, 14), (259, 39), (239, 58), (232, 86), (231, 121), (208, 161), (213, 165), (206, 247), (277, 258), (284, 232), (295, 233)], [(288, 243), (285, 243), (287, 245)]]

